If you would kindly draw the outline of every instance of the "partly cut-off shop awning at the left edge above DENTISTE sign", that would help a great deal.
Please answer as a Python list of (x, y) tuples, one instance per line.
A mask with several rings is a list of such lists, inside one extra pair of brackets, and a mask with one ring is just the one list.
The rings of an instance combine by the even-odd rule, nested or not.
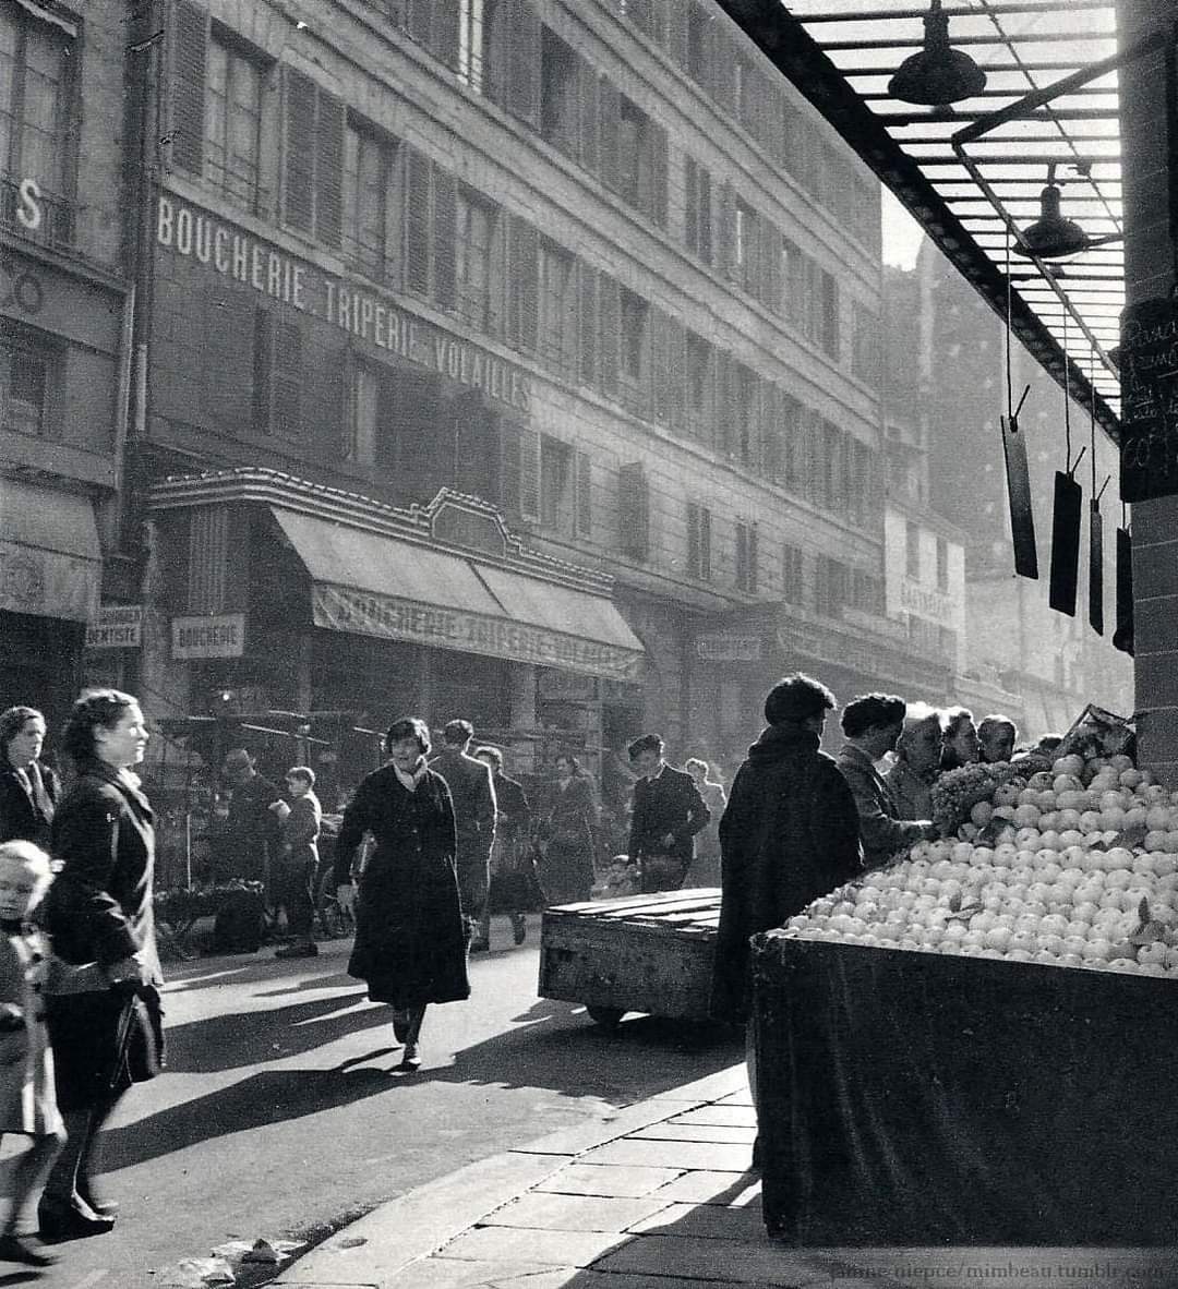
[(0, 480), (0, 608), (85, 623), (95, 616), (101, 584), (90, 501)]

